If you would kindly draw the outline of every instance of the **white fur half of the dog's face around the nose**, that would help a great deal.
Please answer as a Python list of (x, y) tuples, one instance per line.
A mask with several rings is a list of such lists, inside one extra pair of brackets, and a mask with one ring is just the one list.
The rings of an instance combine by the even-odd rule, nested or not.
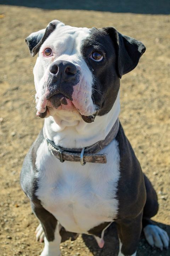
[[(49, 68), (53, 62), (58, 60), (66, 60), (77, 66), (80, 73), (80, 81), (74, 86), (72, 95), (72, 103), (75, 110), (77, 109), (82, 115), (90, 116), (96, 112), (96, 106), (92, 102), (92, 86), (93, 78), (90, 69), (88, 68), (83, 56), (81, 55), (81, 43), (89, 36), (89, 28), (77, 28), (71, 26), (65, 26), (59, 22), (56, 29), (45, 40), (39, 50), (39, 57), (36, 60), (34, 66), (34, 82), (36, 89), (36, 108), (38, 112), (45, 112), (47, 100), (47, 87), (46, 81), (48, 80)], [(43, 50), (46, 47), (50, 47), (53, 52), (53, 56), (46, 58), (43, 54)], [(69, 106), (64, 106), (67, 111), (70, 111)], [(49, 110), (50, 112), (51, 110)], [(53, 108), (50, 115), (53, 116), (53, 111), (57, 110)]]

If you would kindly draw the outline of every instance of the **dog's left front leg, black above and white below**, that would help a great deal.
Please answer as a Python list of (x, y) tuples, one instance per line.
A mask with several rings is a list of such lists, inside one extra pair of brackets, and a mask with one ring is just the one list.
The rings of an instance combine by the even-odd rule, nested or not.
[(60, 256), (60, 223), (50, 212), (41, 206), (39, 200), (32, 203), (32, 209), (40, 220), (45, 233), (44, 249), (40, 256)]

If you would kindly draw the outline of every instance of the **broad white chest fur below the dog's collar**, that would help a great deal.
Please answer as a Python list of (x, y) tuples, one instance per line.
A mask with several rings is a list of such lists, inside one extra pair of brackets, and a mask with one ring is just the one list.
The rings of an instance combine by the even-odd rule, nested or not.
[(61, 163), (50, 153), (45, 140), (39, 146), (36, 196), (68, 231), (87, 233), (117, 216), (118, 142), (113, 140), (102, 153), (107, 154), (107, 165), (81, 166), (79, 162)]

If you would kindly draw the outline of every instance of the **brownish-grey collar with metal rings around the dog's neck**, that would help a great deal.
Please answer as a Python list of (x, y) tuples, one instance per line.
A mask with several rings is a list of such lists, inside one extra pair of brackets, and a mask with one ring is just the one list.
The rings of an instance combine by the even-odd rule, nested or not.
[(105, 154), (97, 154), (100, 150), (104, 149), (108, 144), (115, 139), (119, 130), (119, 119), (114, 123), (112, 129), (106, 136), (104, 140), (99, 140), (95, 144), (88, 146), (82, 149), (69, 149), (69, 148), (62, 148), (60, 146), (56, 146), (55, 143), (48, 139), (47, 145), (52, 153), (52, 155), (56, 156), (61, 162), (73, 161), (73, 162), (80, 162), (81, 165), (85, 165), (86, 162), (93, 162), (93, 163), (101, 163), (106, 164), (107, 159)]

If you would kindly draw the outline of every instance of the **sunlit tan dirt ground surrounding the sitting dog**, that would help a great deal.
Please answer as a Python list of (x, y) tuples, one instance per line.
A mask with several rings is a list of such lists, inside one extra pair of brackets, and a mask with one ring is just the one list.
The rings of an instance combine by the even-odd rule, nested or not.
[[(19, 185), (24, 156), (43, 120), (36, 117), (33, 66), (24, 38), (58, 19), (68, 25), (114, 26), (142, 41), (146, 53), (137, 68), (121, 80), (123, 124), (145, 174), (158, 193), (159, 213), (153, 218), (170, 235), (170, 16), (83, 10), (42, 10), (0, 7), (0, 256), (38, 256), (43, 244), (35, 241), (38, 220)], [(115, 226), (106, 232), (99, 249), (90, 236), (62, 242), (68, 256), (116, 256)], [(168, 256), (170, 249), (151, 248), (143, 235), (138, 256)]]

